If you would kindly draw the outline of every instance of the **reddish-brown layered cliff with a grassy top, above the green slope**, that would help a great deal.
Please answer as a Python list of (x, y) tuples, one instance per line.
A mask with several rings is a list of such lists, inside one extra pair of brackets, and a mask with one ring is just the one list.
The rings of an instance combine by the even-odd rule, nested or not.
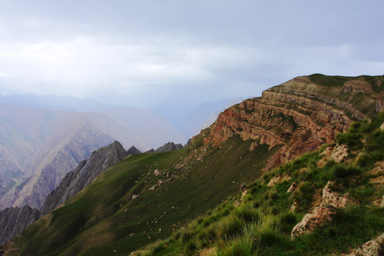
[[(372, 81), (375, 81), (373, 83)], [(373, 84), (373, 85), (372, 85)], [(239, 135), (269, 149), (280, 146), (267, 169), (334, 141), (356, 119), (369, 118), (383, 105), (383, 77), (358, 78), (311, 75), (265, 90), (222, 112), (212, 126), (193, 140), (220, 146)]]

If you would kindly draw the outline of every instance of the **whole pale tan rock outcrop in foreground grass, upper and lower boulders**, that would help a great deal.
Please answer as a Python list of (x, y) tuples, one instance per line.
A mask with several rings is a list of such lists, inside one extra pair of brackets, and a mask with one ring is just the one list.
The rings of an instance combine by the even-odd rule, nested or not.
[[(309, 213), (306, 213), (302, 221), (294, 226), (291, 233), (292, 239), (304, 233), (310, 233), (315, 228), (332, 220), (332, 216), (336, 214), (336, 209), (344, 208), (346, 206), (348, 194), (340, 196), (338, 193), (331, 190), (331, 186), (335, 186), (335, 184), (334, 182), (329, 181), (324, 187), (320, 206), (316, 206), (314, 209), (310, 210)], [(294, 207), (294, 205), (292, 205), (292, 207)]]

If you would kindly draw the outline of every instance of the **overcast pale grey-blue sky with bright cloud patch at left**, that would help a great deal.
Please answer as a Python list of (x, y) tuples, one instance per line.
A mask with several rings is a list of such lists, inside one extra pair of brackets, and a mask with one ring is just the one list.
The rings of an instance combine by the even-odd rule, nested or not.
[[(384, 74), (384, 1), (0, 0), (0, 93), (148, 106)], [(193, 102), (193, 103), (192, 103)]]

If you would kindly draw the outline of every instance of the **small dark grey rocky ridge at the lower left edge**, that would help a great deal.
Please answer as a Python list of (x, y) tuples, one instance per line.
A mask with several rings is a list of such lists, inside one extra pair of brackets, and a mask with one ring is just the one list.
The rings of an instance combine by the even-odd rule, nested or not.
[(11, 207), (0, 210), (0, 245), (21, 233), (28, 225), (38, 220), (39, 211), (29, 206)]

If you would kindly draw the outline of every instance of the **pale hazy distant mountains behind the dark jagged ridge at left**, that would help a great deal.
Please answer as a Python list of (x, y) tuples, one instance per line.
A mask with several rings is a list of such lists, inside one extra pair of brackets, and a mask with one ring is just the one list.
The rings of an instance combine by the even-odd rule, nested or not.
[(40, 210), (68, 171), (116, 139), (143, 149), (183, 141), (146, 109), (80, 113), (0, 105), (0, 209), (28, 205)]

